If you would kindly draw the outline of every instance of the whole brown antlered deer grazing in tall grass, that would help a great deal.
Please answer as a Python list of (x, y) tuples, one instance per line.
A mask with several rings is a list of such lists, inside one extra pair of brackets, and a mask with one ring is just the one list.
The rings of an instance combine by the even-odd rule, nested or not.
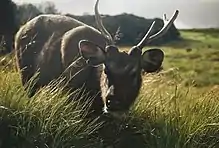
[(153, 22), (143, 39), (126, 53), (119, 51), (103, 26), (98, 3), (95, 19), (100, 31), (62, 15), (39, 15), (20, 28), (15, 51), (22, 84), (39, 72), (32, 95), (62, 75), (67, 88), (83, 86), (91, 95), (96, 94), (91, 107), (96, 112), (127, 111), (139, 94), (142, 69), (155, 72), (160, 68), (163, 51), (142, 49), (167, 32), (179, 11), (169, 21), (165, 18), (163, 28), (151, 35)]

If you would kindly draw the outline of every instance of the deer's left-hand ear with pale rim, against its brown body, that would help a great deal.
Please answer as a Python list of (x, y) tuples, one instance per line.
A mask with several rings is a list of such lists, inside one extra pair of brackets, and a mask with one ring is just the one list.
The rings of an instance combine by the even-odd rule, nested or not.
[(80, 55), (92, 66), (98, 66), (104, 63), (106, 57), (104, 50), (98, 45), (81, 40), (78, 44)]

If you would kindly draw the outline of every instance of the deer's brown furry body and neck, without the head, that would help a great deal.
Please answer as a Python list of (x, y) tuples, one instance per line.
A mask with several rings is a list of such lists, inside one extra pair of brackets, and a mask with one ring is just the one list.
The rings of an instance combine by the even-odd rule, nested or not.
[[(82, 39), (95, 42), (105, 48), (105, 38), (96, 29), (70, 17), (61, 15), (40, 15), (20, 28), (15, 38), (15, 53), (22, 84), (34, 76), (39, 68), (40, 76), (33, 88), (35, 91), (47, 85), (79, 57), (78, 42)], [(67, 80), (86, 64), (69, 68), (64, 75)], [(100, 68), (99, 68), (100, 69)], [(90, 90), (100, 90), (98, 68), (87, 67), (72, 79), (69, 88), (79, 88), (86, 83)], [(99, 73), (99, 75), (98, 75)]]

